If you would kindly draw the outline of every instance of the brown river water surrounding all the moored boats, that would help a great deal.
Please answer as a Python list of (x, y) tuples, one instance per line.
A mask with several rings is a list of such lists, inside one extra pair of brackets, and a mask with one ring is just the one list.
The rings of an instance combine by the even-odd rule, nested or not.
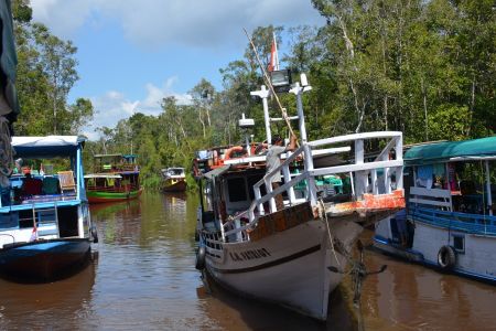
[(0, 330), (496, 330), (496, 287), (369, 249), (370, 270), (388, 268), (366, 279), (359, 308), (347, 278), (326, 323), (234, 296), (194, 268), (196, 207), (160, 193), (91, 206), (93, 260), (51, 284), (0, 280)]

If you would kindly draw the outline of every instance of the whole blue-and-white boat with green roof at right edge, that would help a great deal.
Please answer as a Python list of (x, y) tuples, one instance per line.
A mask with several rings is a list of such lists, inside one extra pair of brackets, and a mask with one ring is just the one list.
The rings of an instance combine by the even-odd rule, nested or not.
[(374, 245), (443, 271), (496, 282), (496, 137), (411, 147), (407, 209), (377, 224)]

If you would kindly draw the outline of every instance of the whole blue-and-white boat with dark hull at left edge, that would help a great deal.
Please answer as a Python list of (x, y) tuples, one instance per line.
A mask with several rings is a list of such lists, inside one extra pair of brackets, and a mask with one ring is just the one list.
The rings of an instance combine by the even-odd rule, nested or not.
[[(71, 170), (10, 178), (0, 202), (0, 274), (51, 280), (84, 265), (97, 242), (83, 181), (76, 136), (13, 137), (23, 162), (63, 159)], [(64, 161), (60, 161), (61, 163)]]

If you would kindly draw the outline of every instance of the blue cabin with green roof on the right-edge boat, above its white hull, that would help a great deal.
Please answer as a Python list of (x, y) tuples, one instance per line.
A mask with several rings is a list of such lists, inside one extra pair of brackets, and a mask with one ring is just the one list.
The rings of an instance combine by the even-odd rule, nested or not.
[(412, 247), (416, 227), (408, 220), (450, 228), (452, 236), (496, 235), (496, 137), (413, 146), (405, 164), (407, 212), (390, 221), (395, 243)]

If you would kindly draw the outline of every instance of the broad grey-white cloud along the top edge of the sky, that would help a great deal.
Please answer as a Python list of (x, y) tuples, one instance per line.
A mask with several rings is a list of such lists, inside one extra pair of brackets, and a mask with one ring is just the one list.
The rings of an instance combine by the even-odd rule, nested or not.
[(226, 47), (245, 43), (242, 28), (322, 24), (310, 1), (287, 0), (32, 0), (36, 21), (71, 38), (85, 21), (117, 20), (132, 43), (145, 49), (171, 44)]

